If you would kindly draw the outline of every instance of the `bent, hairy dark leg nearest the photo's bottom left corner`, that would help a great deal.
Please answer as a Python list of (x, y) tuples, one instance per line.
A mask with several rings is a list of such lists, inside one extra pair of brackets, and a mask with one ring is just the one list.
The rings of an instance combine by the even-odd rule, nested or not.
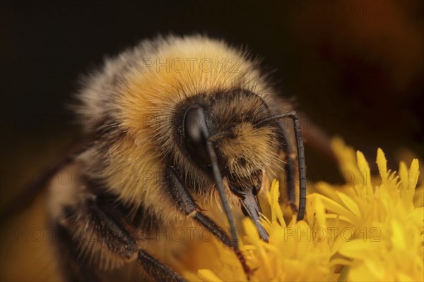
[[(121, 223), (109, 216), (95, 200), (86, 200), (82, 207), (73, 208), (73, 211), (68, 212), (64, 223), (66, 227), (59, 223), (58, 228), (59, 243), (61, 243), (59, 250), (62, 253), (68, 253), (71, 259), (72, 271), (66, 271), (69, 281), (96, 281), (95, 273), (90, 269), (90, 263), (86, 259), (90, 255), (81, 253), (84, 250), (98, 252), (93, 245), (89, 244), (106, 248), (128, 262), (137, 259), (146, 273), (155, 281), (185, 281), (182, 276), (159, 262), (158, 259), (140, 250), (136, 240)], [(88, 240), (90, 238), (96, 240)], [(100, 251), (97, 256), (103, 253)], [(102, 258), (99, 257), (99, 259)], [(69, 266), (69, 262), (66, 264)]]

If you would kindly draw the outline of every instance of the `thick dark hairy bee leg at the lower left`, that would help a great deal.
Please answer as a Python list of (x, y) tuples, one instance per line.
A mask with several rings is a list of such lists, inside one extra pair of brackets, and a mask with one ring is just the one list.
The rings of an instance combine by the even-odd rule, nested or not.
[[(88, 235), (89, 238), (96, 238), (97, 242), (95, 243), (100, 241), (102, 246), (107, 247), (110, 252), (119, 255), (122, 259), (127, 261), (137, 259), (147, 274), (156, 281), (185, 281), (184, 278), (165, 266), (165, 264), (148, 255), (144, 250), (140, 250), (136, 240), (121, 223), (109, 216), (95, 200), (87, 200), (86, 207), (83, 207), (83, 212), (81, 212), (81, 209), (74, 209), (73, 214), (68, 219), (68, 222), (73, 226), (73, 230), (76, 230), (73, 236), (68, 237), (70, 241), (68, 247), (73, 249), (68, 250), (68, 252), (75, 254), (78, 252), (77, 246), (82, 245), (84, 247), (83, 244), (89, 244)], [(81, 235), (78, 232), (81, 232)], [(76, 261), (78, 262), (78, 255), (81, 254), (78, 253), (76, 255)], [(92, 281), (90, 272), (86, 271), (84, 264), (79, 262), (77, 266), (79, 266), (78, 271), (83, 275), (70, 276), (71, 280)]]

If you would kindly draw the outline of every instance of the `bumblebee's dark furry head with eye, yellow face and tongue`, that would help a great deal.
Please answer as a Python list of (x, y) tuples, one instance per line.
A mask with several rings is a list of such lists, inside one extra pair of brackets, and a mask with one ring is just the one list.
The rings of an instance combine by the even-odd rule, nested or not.
[(257, 223), (266, 239), (256, 195), (264, 172), (278, 161), (278, 140), (273, 125), (258, 124), (271, 112), (263, 99), (246, 90), (202, 98), (184, 111), (182, 143), (191, 161), (208, 172), (217, 187), (226, 181), (242, 212)]

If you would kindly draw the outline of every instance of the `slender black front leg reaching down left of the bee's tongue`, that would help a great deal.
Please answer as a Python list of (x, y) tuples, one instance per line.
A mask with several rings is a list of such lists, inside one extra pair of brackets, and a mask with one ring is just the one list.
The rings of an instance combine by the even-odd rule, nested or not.
[(179, 177), (177, 176), (172, 167), (167, 166), (165, 173), (167, 183), (170, 186), (170, 194), (172, 195), (173, 199), (175, 200), (175, 203), (177, 204), (181, 212), (194, 219), (196, 223), (199, 223), (201, 226), (206, 228), (206, 230), (211, 232), (212, 235), (218, 238), (218, 240), (220, 240), (224, 245), (234, 250), (235, 255), (237, 255), (237, 258), (239, 259), (240, 263), (243, 266), (243, 269), (245, 270), (245, 273), (247, 274), (247, 278), (249, 278), (249, 275), (252, 274), (252, 270), (249, 268), (249, 266), (247, 266), (246, 259), (242, 255), (242, 252), (240, 251), (237, 242), (232, 242), (227, 233), (223, 231), (223, 228), (218, 226), (215, 221), (203, 214), (197, 208), (197, 205), (194, 202), (192, 195), (190, 195), (187, 188), (182, 185), (181, 180), (179, 180)]

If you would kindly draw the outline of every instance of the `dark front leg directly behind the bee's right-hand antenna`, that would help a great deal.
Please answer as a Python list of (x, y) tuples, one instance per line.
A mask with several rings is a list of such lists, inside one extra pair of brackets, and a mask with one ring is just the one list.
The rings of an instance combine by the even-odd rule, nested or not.
[(284, 170), (285, 170), (285, 182), (287, 183), (287, 196), (288, 204), (293, 209), (293, 212), (298, 212), (296, 206), (296, 189), (295, 189), (295, 159), (296, 154), (293, 149), (293, 145), (288, 137), (287, 131), (284, 129), (284, 125), (278, 122), (278, 141), (280, 142), (281, 148), (285, 154), (284, 157)]

